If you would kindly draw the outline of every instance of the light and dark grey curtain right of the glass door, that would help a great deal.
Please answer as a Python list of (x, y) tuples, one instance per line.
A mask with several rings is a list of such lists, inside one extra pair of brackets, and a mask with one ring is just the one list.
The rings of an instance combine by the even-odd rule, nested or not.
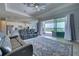
[(74, 14), (70, 14), (66, 18), (65, 22), (65, 36), (66, 40), (75, 41), (76, 40), (76, 33), (75, 33), (75, 21), (74, 21)]

